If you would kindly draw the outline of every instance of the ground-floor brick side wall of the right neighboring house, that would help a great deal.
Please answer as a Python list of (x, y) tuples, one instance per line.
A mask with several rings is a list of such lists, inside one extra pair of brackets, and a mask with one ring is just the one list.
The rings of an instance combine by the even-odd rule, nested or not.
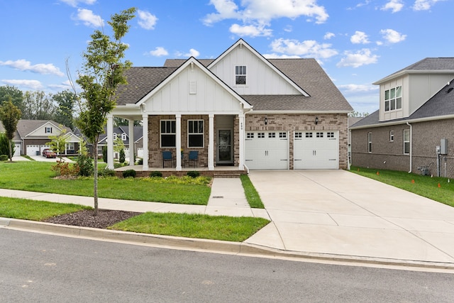
[[(448, 139), (448, 154), (441, 156), (441, 177), (454, 177), (454, 119), (411, 123), (412, 157), (411, 172), (419, 173), (418, 167), (429, 166), (429, 174), (437, 174), (436, 146), (441, 139)], [(406, 123), (394, 126), (353, 129), (352, 165), (387, 170), (410, 170), (410, 155), (404, 154), (404, 129)], [(394, 131), (394, 141), (389, 132)], [(372, 153), (367, 152), (367, 133), (372, 133)]]

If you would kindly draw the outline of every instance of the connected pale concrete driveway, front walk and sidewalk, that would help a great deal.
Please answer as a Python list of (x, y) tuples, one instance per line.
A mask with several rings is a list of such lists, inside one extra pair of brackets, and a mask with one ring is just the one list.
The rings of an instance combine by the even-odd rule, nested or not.
[[(343, 170), (253, 171), (250, 180), (265, 209), (250, 209), (236, 178), (215, 178), (207, 206), (100, 198), (99, 208), (263, 217), (272, 222), (238, 245), (268, 255), (454, 269), (453, 207)], [(93, 205), (92, 197), (62, 194), (0, 189), (1, 196)]]

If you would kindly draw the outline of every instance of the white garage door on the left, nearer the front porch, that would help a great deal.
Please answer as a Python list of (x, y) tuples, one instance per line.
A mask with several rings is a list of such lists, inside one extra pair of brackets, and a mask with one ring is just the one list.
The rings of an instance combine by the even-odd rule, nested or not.
[(254, 131), (246, 133), (245, 165), (250, 170), (287, 170), (289, 168), (287, 132)]

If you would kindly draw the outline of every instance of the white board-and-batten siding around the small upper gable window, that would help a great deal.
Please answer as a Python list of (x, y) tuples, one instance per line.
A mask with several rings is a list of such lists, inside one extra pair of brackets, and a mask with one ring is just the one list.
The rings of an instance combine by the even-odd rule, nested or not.
[[(246, 84), (235, 83), (235, 67), (246, 67)], [(235, 49), (216, 65), (209, 67), (221, 80), (238, 94), (301, 94), (292, 84), (279, 75), (248, 48)]]

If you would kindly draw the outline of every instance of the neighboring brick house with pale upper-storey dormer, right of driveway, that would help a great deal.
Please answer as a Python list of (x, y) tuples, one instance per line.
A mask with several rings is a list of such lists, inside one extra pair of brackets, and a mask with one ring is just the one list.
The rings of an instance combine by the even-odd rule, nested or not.
[(454, 177), (453, 80), (454, 57), (429, 57), (375, 82), (380, 109), (350, 128), (352, 165)]

